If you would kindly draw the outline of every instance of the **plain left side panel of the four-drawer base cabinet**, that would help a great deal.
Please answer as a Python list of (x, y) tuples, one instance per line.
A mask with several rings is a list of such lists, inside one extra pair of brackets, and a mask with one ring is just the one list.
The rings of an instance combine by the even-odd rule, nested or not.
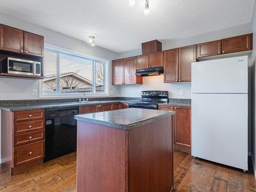
[(3, 165), (7, 168), (10, 175), (13, 175), (12, 162), (12, 130), (13, 115), (12, 112), (1, 110), (1, 158)]

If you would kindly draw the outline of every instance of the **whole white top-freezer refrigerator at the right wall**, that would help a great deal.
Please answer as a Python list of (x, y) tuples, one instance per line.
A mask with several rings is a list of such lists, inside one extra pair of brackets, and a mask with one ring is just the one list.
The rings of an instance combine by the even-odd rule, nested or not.
[(191, 66), (191, 155), (248, 170), (248, 56)]

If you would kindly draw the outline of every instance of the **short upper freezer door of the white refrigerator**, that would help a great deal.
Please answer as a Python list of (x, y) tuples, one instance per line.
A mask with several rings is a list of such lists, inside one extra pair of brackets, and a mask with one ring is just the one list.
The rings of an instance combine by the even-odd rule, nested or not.
[(193, 62), (192, 93), (248, 93), (248, 56)]

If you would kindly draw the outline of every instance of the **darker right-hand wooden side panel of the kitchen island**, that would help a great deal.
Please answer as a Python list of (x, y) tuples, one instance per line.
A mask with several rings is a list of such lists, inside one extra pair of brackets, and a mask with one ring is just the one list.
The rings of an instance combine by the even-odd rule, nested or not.
[(129, 191), (173, 188), (172, 116), (129, 130)]

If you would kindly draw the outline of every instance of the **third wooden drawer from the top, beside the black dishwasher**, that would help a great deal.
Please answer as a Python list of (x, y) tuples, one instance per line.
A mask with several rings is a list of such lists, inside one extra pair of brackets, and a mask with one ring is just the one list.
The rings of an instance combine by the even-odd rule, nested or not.
[(13, 146), (24, 145), (45, 139), (45, 130), (13, 136)]

